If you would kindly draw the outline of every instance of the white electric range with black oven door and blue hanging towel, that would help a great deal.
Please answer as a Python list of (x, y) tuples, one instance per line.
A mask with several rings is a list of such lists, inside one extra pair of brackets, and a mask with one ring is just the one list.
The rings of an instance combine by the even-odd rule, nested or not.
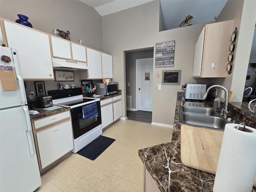
[(52, 103), (70, 107), (74, 150), (78, 152), (102, 134), (100, 99), (83, 97), (82, 88), (51, 90)]

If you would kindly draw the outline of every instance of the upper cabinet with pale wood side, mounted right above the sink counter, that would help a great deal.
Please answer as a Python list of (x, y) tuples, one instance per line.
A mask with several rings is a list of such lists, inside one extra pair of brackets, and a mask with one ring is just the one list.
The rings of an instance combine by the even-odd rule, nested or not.
[(226, 77), (233, 20), (207, 24), (195, 46), (194, 77)]

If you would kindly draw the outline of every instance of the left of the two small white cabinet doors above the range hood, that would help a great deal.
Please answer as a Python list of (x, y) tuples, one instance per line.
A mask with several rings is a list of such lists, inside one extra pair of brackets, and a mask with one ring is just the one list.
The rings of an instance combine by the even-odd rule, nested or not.
[(62, 38), (51, 36), (52, 56), (71, 60), (70, 42)]

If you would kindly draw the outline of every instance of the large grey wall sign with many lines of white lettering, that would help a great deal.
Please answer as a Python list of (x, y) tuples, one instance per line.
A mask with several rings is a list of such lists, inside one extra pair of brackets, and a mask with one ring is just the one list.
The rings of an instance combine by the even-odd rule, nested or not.
[(155, 67), (174, 66), (175, 41), (156, 43), (156, 65)]

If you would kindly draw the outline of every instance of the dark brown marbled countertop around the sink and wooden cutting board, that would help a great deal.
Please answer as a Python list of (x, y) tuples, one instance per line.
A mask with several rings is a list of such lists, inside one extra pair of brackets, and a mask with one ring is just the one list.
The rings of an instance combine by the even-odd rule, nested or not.
[[(144, 166), (158, 185), (161, 192), (201, 192), (202, 182), (214, 179), (213, 174), (189, 168), (180, 160), (179, 106), (182, 92), (177, 94), (172, 141), (138, 151)], [(212, 101), (186, 101), (186, 105), (212, 107)], [(213, 181), (204, 184), (205, 192), (212, 192)], [(253, 188), (256, 192), (256, 188)]]

